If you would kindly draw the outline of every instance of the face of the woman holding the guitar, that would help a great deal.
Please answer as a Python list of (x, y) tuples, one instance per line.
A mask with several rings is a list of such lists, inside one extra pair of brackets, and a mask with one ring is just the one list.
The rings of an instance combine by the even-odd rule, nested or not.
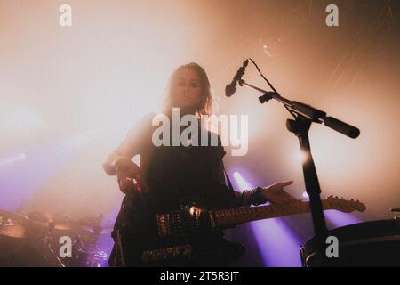
[(178, 70), (172, 84), (173, 107), (194, 113), (202, 102), (200, 76), (195, 69)]

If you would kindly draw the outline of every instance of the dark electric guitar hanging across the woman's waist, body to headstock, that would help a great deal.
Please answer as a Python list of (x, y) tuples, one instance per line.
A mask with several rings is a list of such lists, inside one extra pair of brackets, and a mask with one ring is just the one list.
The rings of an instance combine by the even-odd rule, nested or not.
[[(324, 210), (350, 213), (364, 212), (362, 202), (353, 199), (328, 197), (322, 200)], [(141, 261), (156, 264), (172, 258), (191, 256), (196, 244), (204, 240), (207, 233), (226, 229), (251, 221), (279, 216), (308, 213), (309, 202), (296, 201), (284, 205), (259, 207), (222, 208), (207, 210), (194, 203), (187, 203), (180, 210), (158, 214), (148, 219), (148, 231), (136, 241)]]

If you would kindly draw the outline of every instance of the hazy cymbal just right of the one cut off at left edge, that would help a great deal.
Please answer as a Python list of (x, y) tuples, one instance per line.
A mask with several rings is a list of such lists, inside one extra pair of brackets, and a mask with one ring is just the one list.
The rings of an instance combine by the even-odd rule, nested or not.
[(72, 230), (76, 228), (76, 222), (72, 218), (60, 214), (36, 211), (29, 213), (27, 216), (36, 224), (49, 229)]

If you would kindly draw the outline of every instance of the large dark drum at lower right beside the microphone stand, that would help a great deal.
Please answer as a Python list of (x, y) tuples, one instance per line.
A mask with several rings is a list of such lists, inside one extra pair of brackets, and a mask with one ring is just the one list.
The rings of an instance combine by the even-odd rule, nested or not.
[(400, 266), (400, 218), (351, 224), (330, 230), (339, 240), (339, 257), (318, 252), (316, 239), (300, 248), (303, 266)]

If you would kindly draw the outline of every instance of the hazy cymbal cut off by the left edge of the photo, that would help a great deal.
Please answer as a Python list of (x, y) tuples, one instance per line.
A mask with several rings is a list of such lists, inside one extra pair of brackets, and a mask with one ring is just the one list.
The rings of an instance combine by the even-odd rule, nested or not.
[(11, 238), (26, 238), (37, 233), (36, 229), (28, 216), (0, 210), (0, 235)]

